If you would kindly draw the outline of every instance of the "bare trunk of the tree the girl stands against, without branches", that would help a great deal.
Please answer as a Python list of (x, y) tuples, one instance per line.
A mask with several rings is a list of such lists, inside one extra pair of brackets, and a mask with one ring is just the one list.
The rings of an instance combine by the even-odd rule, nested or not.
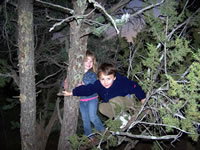
[[(83, 15), (87, 7), (87, 2), (82, 0), (82, 5), (78, 1), (73, 1), (75, 15)], [(81, 37), (82, 20), (75, 20), (70, 23), (70, 49), (68, 67), (68, 89), (71, 90), (81, 83), (83, 75), (83, 61), (87, 50), (87, 36)], [(70, 150), (69, 136), (76, 133), (79, 97), (65, 97), (63, 121), (59, 138), (58, 150)]]

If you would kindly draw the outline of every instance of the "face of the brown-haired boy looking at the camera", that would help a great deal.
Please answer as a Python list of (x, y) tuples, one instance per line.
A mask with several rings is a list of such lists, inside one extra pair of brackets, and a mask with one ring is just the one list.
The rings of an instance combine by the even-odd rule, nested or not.
[(111, 75), (104, 75), (103, 73), (100, 74), (99, 81), (101, 82), (102, 86), (105, 88), (110, 88), (115, 81), (116, 77)]

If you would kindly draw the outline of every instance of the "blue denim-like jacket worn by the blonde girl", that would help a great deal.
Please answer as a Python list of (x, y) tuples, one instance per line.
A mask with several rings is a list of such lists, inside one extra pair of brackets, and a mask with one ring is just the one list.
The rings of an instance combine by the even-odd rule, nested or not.
[[(88, 84), (94, 84), (94, 82), (97, 80), (97, 75), (96, 73), (92, 72), (92, 71), (87, 71), (84, 75), (83, 75), (83, 83), (84, 85), (88, 85)], [(97, 96), (97, 93), (93, 93), (91, 95), (82, 95), (80, 97), (80, 99), (87, 99), (87, 98), (91, 98), (91, 97), (95, 97)]]

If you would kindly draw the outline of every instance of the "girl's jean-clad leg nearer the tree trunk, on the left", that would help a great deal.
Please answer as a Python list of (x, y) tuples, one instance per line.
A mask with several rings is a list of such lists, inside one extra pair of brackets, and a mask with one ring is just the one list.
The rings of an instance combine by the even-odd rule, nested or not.
[(88, 108), (89, 108), (88, 102), (80, 101), (80, 112), (81, 112), (81, 117), (82, 117), (82, 121), (83, 121), (84, 134), (86, 136), (88, 136), (92, 133), (92, 127), (91, 127), (91, 123), (90, 123)]

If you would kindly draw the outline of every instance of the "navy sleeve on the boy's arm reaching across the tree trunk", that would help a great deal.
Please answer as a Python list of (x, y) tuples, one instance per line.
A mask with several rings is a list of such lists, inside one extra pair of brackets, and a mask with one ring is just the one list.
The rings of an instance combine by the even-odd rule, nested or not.
[(72, 93), (73, 96), (90, 96), (94, 93), (97, 93), (97, 91), (94, 84), (88, 84), (74, 88)]

